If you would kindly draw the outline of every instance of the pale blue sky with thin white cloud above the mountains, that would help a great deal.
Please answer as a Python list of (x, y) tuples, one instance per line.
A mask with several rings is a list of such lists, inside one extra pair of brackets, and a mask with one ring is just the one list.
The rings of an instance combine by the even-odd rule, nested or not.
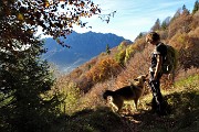
[(84, 19), (92, 29), (74, 28), (78, 33), (87, 31), (114, 33), (134, 41), (140, 32), (148, 32), (157, 19), (164, 21), (174, 16), (184, 4), (192, 11), (196, 0), (93, 0), (100, 4), (102, 13), (117, 11), (109, 23), (102, 22), (98, 16)]

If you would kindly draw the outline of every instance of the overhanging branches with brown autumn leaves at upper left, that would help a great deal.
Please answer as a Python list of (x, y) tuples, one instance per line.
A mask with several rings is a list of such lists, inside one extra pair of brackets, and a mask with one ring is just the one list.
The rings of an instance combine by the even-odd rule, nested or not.
[[(66, 37), (73, 24), (86, 25), (81, 18), (94, 14), (101, 14), (101, 9), (91, 0), (1, 0), (1, 48), (13, 50), (13, 40), (21, 45), (31, 44), (39, 26), (45, 35)], [(59, 40), (57, 43), (64, 46)]]

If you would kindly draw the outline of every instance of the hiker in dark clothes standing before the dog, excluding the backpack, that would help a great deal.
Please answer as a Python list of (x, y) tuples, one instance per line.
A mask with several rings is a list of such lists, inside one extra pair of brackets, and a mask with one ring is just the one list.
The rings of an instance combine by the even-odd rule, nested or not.
[(160, 78), (163, 76), (161, 66), (165, 56), (167, 55), (167, 47), (160, 42), (160, 36), (156, 32), (148, 33), (146, 42), (155, 46), (154, 52), (151, 53), (151, 64), (149, 67), (149, 87), (153, 92), (151, 110), (159, 116), (167, 114), (163, 95), (160, 92)]

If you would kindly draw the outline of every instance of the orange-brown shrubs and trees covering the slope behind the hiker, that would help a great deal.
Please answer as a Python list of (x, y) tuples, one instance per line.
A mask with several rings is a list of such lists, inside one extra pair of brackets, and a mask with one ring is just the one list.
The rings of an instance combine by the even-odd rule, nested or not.
[[(179, 15), (170, 22), (168, 30), (160, 30), (158, 33), (164, 43), (174, 46), (178, 52), (175, 80), (198, 74), (199, 15)], [(134, 44), (128, 45), (123, 42), (119, 46), (112, 48), (109, 55), (97, 56), (95, 59), (84, 64), (81, 69), (74, 70), (71, 80), (75, 81), (80, 89), (86, 92), (85, 97), (83, 97), (84, 101), (87, 98), (86, 106), (102, 105), (102, 94), (105, 89), (118, 89), (129, 85), (140, 74), (148, 74), (154, 46), (145, 42), (145, 35), (136, 38)], [(128, 55), (128, 61), (125, 67), (122, 68), (114, 58), (123, 50), (129, 51), (124, 54), (125, 57)], [(76, 78), (74, 79), (74, 77)], [(172, 88), (174, 81), (168, 78), (168, 75), (164, 75), (160, 81), (161, 89)], [(148, 90), (146, 89), (146, 91)], [(91, 100), (91, 98), (94, 98), (94, 100)]]

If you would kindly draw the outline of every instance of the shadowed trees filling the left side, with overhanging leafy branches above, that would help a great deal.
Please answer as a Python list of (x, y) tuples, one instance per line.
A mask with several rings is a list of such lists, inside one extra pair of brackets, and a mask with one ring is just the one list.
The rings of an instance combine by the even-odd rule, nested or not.
[(41, 26), (59, 41), (73, 24), (85, 26), (81, 18), (100, 14), (91, 0), (0, 0), (0, 131), (46, 132), (61, 114), (62, 100), (53, 91), (53, 76), (41, 61)]

